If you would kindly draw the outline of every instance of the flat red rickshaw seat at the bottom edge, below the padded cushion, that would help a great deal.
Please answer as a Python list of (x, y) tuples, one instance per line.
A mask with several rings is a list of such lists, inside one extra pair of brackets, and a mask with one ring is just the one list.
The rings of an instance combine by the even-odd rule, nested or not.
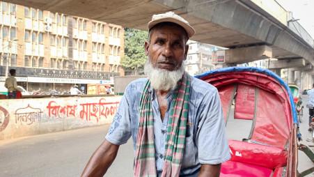
[(242, 162), (226, 161), (221, 164), (220, 176), (235, 177), (235, 176), (250, 176), (262, 177), (270, 176), (272, 169), (256, 166), (253, 164), (245, 164)]

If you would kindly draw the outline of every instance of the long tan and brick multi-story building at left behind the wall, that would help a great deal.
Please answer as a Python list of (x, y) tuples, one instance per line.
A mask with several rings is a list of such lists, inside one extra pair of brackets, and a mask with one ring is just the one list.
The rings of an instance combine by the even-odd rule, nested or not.
[[(124, 75), (122, 26), (1, 2), (0, 81), (17, 69), (29, 91), (113, 84)], [(111, 79), (111, 80), (110, 80)]]

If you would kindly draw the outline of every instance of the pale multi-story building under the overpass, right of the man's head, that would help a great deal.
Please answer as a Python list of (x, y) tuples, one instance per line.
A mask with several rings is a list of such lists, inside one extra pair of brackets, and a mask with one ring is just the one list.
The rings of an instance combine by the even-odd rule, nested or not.
[(193, 40), (189, 40), (187, 44), (189, 45), (189, 52), (185, 61), (185, 70), (190, 75), (194, 76), (214, 69), (212, 51), (220, 48)]

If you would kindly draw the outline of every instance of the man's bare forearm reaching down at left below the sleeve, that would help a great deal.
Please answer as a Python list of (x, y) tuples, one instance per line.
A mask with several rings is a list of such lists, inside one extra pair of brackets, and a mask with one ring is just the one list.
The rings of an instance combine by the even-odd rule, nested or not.
[(115, 160), (118, 149), (119, 145), (111, 144), (107, 139), (104, 139), (104, 142), (93, 153), (81, 177), (104, 176), (113, 160)]

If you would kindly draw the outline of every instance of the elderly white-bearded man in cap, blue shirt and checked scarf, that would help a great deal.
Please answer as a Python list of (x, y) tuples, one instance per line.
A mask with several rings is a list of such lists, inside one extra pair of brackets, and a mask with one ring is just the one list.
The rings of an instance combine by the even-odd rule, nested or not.
[(219, 94), (183, 65), (195, 31), (172, 12), (153, 15), (148, 29), (148, 79), (127, 86), (82, 176), (103, 176), (131, 136), (134, 176), (219, 176), (221, 162), (230, 159)]

